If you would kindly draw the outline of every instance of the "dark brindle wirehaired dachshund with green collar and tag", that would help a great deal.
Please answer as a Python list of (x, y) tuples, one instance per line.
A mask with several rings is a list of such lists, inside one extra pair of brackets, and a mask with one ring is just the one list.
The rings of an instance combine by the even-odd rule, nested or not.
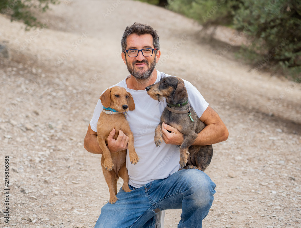
[(184, 141), (180, 146), (181, 168), (197, 168), (204, 171), (213, 156), (212, 145), (192, 146), (197, 133), (205, 128), (197, 113), (188, 102), (188, 94), (184, 81), (178, 77), (164, 77), (146, 88), (147, 94), (159, 102), (166, 98), (167, 107), (163, 110), (160, 123), (155, 129), (155, 144), (160, 146), (163, 142), (162, 123), (176, 128), (183, 134)]

